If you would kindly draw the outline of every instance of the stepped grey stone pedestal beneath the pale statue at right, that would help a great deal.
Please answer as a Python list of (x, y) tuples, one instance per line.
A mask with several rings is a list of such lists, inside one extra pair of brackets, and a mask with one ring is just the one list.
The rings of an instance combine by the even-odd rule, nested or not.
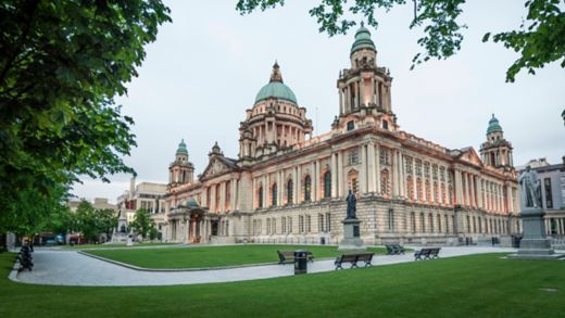
[(564, 254), (555, 254), (551, 242), (545, 238), (545, 222), (541, 208), (528, 208), (522, 212), (524, 237), (520, 241), (518, 254), (511, 255), (519, 259), (557, 259)]

